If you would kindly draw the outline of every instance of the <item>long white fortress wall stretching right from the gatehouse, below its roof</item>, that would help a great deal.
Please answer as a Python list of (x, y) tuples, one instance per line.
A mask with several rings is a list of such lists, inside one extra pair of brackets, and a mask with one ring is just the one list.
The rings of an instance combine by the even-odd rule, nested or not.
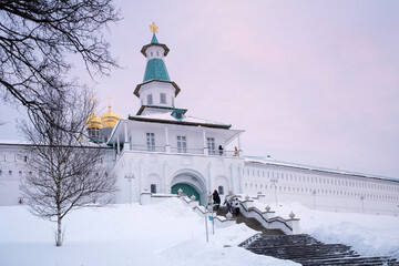
[[(272, 180), (277, 180), (276, 185)], [(336, 212), (399, 214), (399, 182), (300, 167), (246, 163), (244, 193)], [(275, 192), (276, 190), (276, 192)]]

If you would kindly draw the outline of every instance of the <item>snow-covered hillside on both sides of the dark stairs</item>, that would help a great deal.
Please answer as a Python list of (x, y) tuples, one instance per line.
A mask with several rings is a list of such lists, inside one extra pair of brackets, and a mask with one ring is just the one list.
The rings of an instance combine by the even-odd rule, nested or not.
[[(398, 257), (398, 217), (280, 205), (277, 215), (287, 217), (294, 211), (303, 233), (352, 245), (364, 255)], [(150, 206), (79, 209), (65, 217), (64, 226), (64, 245), (55, 247), (54, 223), (39, 219), (23, 206), (0, 207), (0, 265), (297, 265), (237, 247), (256, 233), (245, 225), (216, 228), (206, 243), (204, 217), (177, 198)]]

